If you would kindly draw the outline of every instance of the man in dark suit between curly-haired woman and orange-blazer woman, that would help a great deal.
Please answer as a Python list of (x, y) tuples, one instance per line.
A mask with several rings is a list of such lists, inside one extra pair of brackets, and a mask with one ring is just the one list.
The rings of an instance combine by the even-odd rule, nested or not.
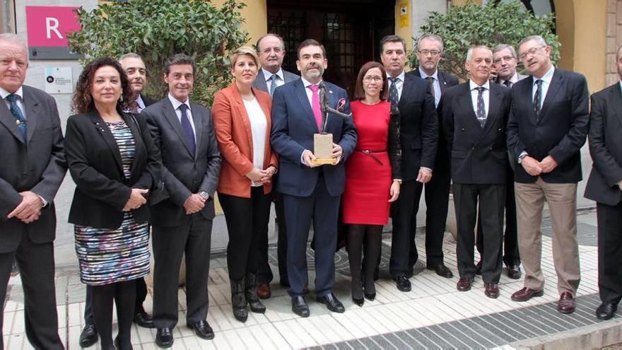
[[(172, 346), (177, 325), (180, 264), (186, 261), (186, 322), (197, 336), (213, 339), (207, 323), (207, 280), (211, 228), (221, 156), (211, 112), (191, 103), (196, 66), (185, 54), (175, 54), (164, 66), (168, 95), (147, 107), (153, 142), (162, 153), (162, 180), (168, 199), (151, 206), (153, 228), (153, 323), (155, 343)], [(158, 189), (155, 189), (158, 191)], [(153, 193), (151, 193), (153, 195)]]

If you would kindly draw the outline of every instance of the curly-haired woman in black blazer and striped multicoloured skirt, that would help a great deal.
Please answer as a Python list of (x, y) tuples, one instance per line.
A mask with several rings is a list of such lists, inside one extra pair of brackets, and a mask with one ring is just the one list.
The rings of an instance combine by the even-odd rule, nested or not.
[(117, 349), (131, 349), (134, 279), (149, 273), (146, 198), (159, 181), (160, 154), (146, 122), (127, 110), (131, 89), (121, 66), (108, 58), (86, 65), (67, 120), (66, 158), (76, 182), (69, 222), (83, 283), (93, 286), (93, 317), (102, 349), (112, 342), (117, 304)]

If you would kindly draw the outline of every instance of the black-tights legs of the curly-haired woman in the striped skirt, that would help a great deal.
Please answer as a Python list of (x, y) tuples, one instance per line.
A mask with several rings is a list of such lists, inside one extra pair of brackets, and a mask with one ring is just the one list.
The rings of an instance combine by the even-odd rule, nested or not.
[(100, 334), (102, 350), (115, 349), (112, 344), (112, 300), (117, 304), (120, 349), (131, 349), (131, 323), (136, 306), (134, 280), (93, 286), (93, 318)]

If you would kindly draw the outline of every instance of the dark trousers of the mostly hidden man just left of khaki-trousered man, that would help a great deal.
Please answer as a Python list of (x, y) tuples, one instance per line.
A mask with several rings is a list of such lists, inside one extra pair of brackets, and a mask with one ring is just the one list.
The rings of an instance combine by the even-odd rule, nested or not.
[[(511, 168), (510, 168), (511, 169)], [(514, 175), (508, 170), (507, 185), (505, 187), (505, 233), (503, 233), (503, 262), (506, 265), (520, 265), (518, 250), (518, 228), (516, 225), (516, 196), (514, 194)], [(481, 213), (481, 211), (480, 211)], [(481, 222), (481, 218), (479, 218)], [(477, 226), (477, 251), (482, 253), (481, 226)]]

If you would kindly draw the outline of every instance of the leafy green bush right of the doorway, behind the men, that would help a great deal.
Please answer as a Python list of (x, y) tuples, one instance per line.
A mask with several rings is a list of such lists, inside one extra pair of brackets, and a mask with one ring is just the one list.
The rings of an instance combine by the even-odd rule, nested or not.
[[(541, 35), (551, 45), (551, 59), (559, 59), (557, 35), (553, 33), (554, 15), (536, 17), (529, 13), (520, 1), (487, 1), (485, 5), (469, 1), (465, 6), (451, 6), (447, 13), (432, 12), (421, 26), (421, 33), (433, 33), (442, 37), (445, 44), (440, 69), (455, 76), (467, 77), (464, 60), (469, 47), (487, 45), (491, 49), (498, 44), (515, 47), (529, 35)], [(417, 40), (413, 38), (413, 47)], [(417, 66), (416, 49), (409, 54), (411, 66)]]

